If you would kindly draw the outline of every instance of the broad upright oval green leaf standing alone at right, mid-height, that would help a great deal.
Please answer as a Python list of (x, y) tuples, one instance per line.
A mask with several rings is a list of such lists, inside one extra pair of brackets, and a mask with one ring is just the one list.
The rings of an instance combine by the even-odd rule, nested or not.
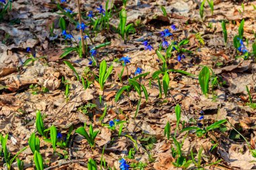
[(203, 69), (201, 69), (198, 79), (203, 94), (207, 96), (210, 81), (210, 70), (208, 69), (208, 67), (203, 67)]

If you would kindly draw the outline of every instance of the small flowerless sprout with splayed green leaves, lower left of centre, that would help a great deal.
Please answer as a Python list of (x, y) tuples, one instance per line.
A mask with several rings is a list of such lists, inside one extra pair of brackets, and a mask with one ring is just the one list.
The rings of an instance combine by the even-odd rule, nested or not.
[(94, 131), (92, 128), (92, 124), (90, 124), (89, 134), (88, 134), (88, 132), (86, 132), (86, 124), (84, 124), (84, 127), (77, 128), (75, 132), (77, 132), (77, 134), (81, 134), (82, 136), (84, 136), (88, 141), (88, 143), (90, 144), (91, 148), (94, 148), (95, 138), (100, 131), (99, 130)]

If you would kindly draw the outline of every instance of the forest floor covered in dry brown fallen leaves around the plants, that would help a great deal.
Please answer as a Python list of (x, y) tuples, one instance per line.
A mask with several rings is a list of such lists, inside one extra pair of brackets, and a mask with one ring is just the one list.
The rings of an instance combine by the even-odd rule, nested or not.
[[(71, 19), (67, 13), (63, 15), (57, 3), (74, 12), (69, 14)], [(104, 11), (110, 15), (107, 28), (104, 21), (92, 24), (104, 17), (97, 8), (102, 5), (106, 10), (106, 1), (81, 0), (82, 21), (88, 26), (84, 35), (87, 32), (90, 36), (85, 40), (86, 56), (81, 58), (73, 51), (61, 58), (63, 49), (74, 47), (81, 37), (72, 22), (78, 22), (76, 1), (13, 1), (0, 24), (0, 133), (9, 136), (8, 151), (15, 155), (28, 146), (28, 139), (35, 132), (46, 169), (88, 169), (89, 159), (96, 162), (98, 169), (120, 169), (121, 159), (129, 169), (256, 169), (251, 152), (256, 141), (253, 4), (256, 1), (216, 0), (212, 15), (205, 1), (201, 19), (200, 1), (127, 1), (127, 25), (133, 24), (135, 31), (124, 41), (117, 31), (122, 1), (108, 3), (108, 13)], [(93, 11), (92, 19), (88, 18), (89, 11)], [(61, 17), (67, 34), (73, 36), (71, 40), (64, 40), (59, 26)], [(248, 57), (234, 48), (233, 42), (243, 19), (242, 39)], [(222, 21), (226, 22), (226, 44)], [(177, 29), (170, 27), (173, 25)], [(172, 35), (161, 37), (160, 32), (165, 29)], [(153, 50), (145, 49), (142, 43), (146, 40)], [(173, 46), (186, 42), (179, 51), (167, 54), (168, 50), (159, 49), (162, 40)], [(92, 62), (89, 51), (104, 42), (110, 44), (96, 48), (96, 62)], [(153, 73), (163, 69), (157, 49), (166, 56), (169, 71), (155, 76)], [(120, 61), (123, 56), (130, 58), (125, 67)], [(108, 67), (113, 65), (103, 91), (98, 83), (102, 60)], [(70, 62), (77, 74), (63, 61)], [(207, 95), (203, 95), (198, 78), (205, 66), (210, 68)], [(134, 79), (137, 68), (145, 76)], [(160, 96), (158, 77), (163, 85), (166, 76), (168, 90), (161, 87)], [(141, 94), (133, 88), (131, 79), (138, 83)], [(117, 91), (125, 85), (129, 88), (115, 101)], [(181, 106), (178, 123), (177, 105)], [(42, 114), (44, 128), (54, 125), (61, 133), (59, 142), (65, 142), (70, 134), (67, 146), (58, 145), (53, 152), (51, 140), (46, 141), (50, 133), (45, 132), (42, 137), (36, 130), (37, 110)], [(207, 128), (218, 121), (223, 123)], [(86, 131), (90, 124), (99, 130), (94, 147), (75, 132), (84, 124)], [(186, 130), (189, 127), (191, 130)], [(170, 133), (169, 139), (164, 129)], [(29, 146), (18, 158), (24, 161), (24, 169), (34, 169)], [(0, 160), (0, 169), (4, 169), (3, 153)], [(12, 167), (18, 169), (16, 161)]]

